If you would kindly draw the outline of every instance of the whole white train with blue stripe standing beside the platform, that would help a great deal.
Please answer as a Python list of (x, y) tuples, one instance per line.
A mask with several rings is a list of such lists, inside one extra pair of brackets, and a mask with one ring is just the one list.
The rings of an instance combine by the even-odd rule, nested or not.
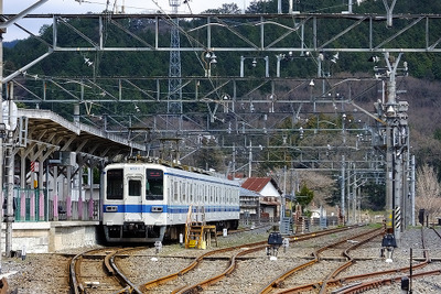
[(239, 185), (158, 163), (112, 163), (104, 170), (103, 226), (108, 242), (155, 242), (184, 233), (189, 207), (205, 221), (236, 229)]

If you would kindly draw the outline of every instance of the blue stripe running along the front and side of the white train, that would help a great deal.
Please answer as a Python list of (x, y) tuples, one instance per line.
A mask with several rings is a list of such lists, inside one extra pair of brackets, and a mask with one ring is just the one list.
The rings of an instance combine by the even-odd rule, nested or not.
[[(117, 210), (106, 211), (107, 207), (117, 207)], [(168, 205), (136, 205), (136, 204), (127, 204), (127, 205), (104, 205), (103, 211), (106, 214), (114, 213), (152, 213), (152, 207), (162, 208), (162, 213), (168, 214), (186, 214), (189, 213), (189, 206), (168, 206)], [(195, 213), (196, 209), (193, 209)], [(219, 206), (207, 206), (205, 207), (205, 213), (237, 213), (239, 211), (239, 207), (219, 207)], [(155, 211), (155, 214), (159, 214)]]

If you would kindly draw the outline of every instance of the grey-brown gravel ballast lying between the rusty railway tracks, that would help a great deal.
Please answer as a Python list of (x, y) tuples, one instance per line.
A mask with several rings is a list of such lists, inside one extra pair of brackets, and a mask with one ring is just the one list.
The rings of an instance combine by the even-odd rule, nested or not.
[[(276, 276), (295, 265), (302, 264), (311, 259), (312, 252), (331, 242), (348, 236), (349, 232), (333, 233), (327, 238), (316, 238), (306, 241), (291, 242), (287, 250), (280, 249), (277, 260), (270, 260), (266, 252), (258, 251), (246, 255), (249, 259), (239, 260), (235, 272), (204, 293), (259, 293), (259, 291), (271, 282)], [(431, 230), (424, 229), (427, 237), (427, 252), (433, 260), (423, 271), (441, 270), (441, 239)], [(380, 239), (362, 246), (357, 249), (355, 258), (357, 262), (349, 270), (343, 272), (341, 276), (361, 274), (368, 271), (384, 271), (409, 265), (410, 248), (413, 258), (423, 258), (421, 247), (421, 233), (419, 228), (406, 230), (401, 236), (399, 247), (394, 252), (394, 262), (385, 262), (380, 258)], [(266, 240), (268, 232), (259, 229), (241, 235), (229, 235), (219, 237), (219, 247), (237, 246), (244, 242), (257, 242)], [(90, 248), (88, 248), (90, 249)], [(2, 274), (7, 276), (9, 288), (18, 290), (18, 293), (69, 293), (68, 291), (68, 262), (66, 253), (78, 253), (87, 249), (76, 249), (72, 252), (57, 252), (54, 254), (28, 254), (24, 260), (18, 258), (2, 258)], [(135, 284), (144, 283), (163, 275), (175, 273), (193, 262), (193, 258), (207, 252), (206, 250), (183, 249), (179, 244), (164, 246), (157, 253), (154, 248), (137, 251), (133, 257), (126, 257), (117, 260), (117, 263), (132, 280)], [(217, 255), (216, 255), (217, 257)], [(227, 253), (226, 253), (227, 257)], [(368, 260), (364, 260), (368, 259)], [(419, 261), (413, 261), (417, 264)], [(216, 262), (216, 266), (225, 268), (226, 261)], [(323, 261), (321, 266), (325, 269), (327, 264), (335, 266), (338, 263), (333, 261), (330, 255)], [(213, 263), (215, 264), (215, 263)], [(206, 268), (208, 266), (208, 268)], [(204, 265), (195, 271), (193, 275), (183, 276), (176, 285), (189, 284), (205, 279), (211, 271), (209, 265)], [(320, 280), (320, 271), (316, 269), (304, 270), (298, 277), (292, 277), (293, 284), (302, 284)], [(213, 274), (213, 273), (212, 273)], [(397, 274), (402, 275), (400, 273)], [(303, 276), (303, 277), (301, 277)], [(308, 281), (306, 281), (308, 277)], [(378, 280), (380, 277), (374, 277)], [(173, 283), (172, 283), (173, 284)], [(413, 293), (441, 293), (441, 279), (439, 275), (415, 279), (412, 281)], [(154, 293), (166, 293), (166, 291), (155, 291)], [(169, 288), (170, 293), (170, 288)], [(400, 283), (383, 286), (378, 290), (365, 293), (400, 293)]]

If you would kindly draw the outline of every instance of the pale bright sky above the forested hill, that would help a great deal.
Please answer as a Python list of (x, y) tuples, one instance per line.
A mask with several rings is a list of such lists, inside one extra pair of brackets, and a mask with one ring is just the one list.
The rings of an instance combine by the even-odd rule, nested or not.
[[(165, 13), (172, 12), (169, 4), (169, 0), (108, 0), (110, 9), (114, 8), (115, 3), (119, 8), (125, 6), (126, 13), (152, 13), (158, 10), (162, 10)], [(39, 0), (0, 0), (3, 2), (3, 14), (17, 14), (29, 8), (30, 6), (39, 2)], [(183, 1), (181, 1), (183, 2)], [(250, 0), (190, 0), (189, 4), (181, 3), (179, 12), (182, 13), (200, 13), (207, 9), (220, 8), (223, 3), (236, 3), (240, 9), (248, 6)], [(31, 12), (31, 14), (46, 14), (46, 13), (100, 13), (106, 9), (107, 0), (49, 0), (42, 4), (39, 9)], [(190, 8), (189, 8), (190, 6)], [(20, 25), (26, 30), (37, 34), (40, 28), (45, 24), (52, 23), (52, 20), (22, 20), (19, 22)], [(3, 34), (3, 41), (12, 41), (17, 39), (25, 39), (29, 34), (11, 25), (8, 28), (7, 33)]]

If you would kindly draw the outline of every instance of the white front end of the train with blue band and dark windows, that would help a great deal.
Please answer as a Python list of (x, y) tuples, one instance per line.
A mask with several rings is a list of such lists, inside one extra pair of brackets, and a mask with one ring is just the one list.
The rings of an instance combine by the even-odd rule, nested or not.
[[(154, 242), (165, 230), (164, 173), (143, 165), (105, 170), (103, 224), (108, 241)], [(152, 225), (148, 225), (152, 224)]]

